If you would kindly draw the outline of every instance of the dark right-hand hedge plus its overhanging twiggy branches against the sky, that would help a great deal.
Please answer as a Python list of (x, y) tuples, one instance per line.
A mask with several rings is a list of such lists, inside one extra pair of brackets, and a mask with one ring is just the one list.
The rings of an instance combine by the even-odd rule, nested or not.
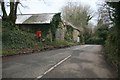
[[(105, 42), (105, 51), (108, 59), (112, 61), (112, 63), (119, 66), (120, 64), (120, 2), (107, 2), (105, 4), (105, 8), (109, 15), (104, 15), (102, 18), (106, 18), (109, 16), (109, 20), (107, 22), (111, 26), (109, 28), (108, 36)], [(107, 6), (107, 7), (106, 7)], [(108, 18), (107, 18), (108, 19)], [(105, 22), (105, 21), (104, 21)], [(108, 24), (105, 22), (106, 24)], [(112, 25), (111, 25), (111, 23)], [(103, 34), (103, 33), (102, 33)], [(101, 35), (102, 36), (102, 35)], [(118, 67), (119, 68), (119, 67)]]

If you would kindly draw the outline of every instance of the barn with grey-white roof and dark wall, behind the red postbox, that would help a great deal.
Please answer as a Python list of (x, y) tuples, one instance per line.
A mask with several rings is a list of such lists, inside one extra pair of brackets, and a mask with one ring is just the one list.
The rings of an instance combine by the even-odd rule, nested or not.
[(16, 25), (20, 29), (32, 33), (41, 31), (41, 38), (51, 40), (50, 22), (55, 13), (41, 13), (41, 14), (19, 14), (17, 15)]

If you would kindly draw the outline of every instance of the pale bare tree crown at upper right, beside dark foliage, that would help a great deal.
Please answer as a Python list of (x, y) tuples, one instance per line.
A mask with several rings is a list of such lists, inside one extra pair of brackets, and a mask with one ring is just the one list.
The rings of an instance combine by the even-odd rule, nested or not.
[(114, 8), (110, 7), (106, 2), (98, 4), (98, 24), (102, 20), (102, 24), (111, 25), (114, 23)]

